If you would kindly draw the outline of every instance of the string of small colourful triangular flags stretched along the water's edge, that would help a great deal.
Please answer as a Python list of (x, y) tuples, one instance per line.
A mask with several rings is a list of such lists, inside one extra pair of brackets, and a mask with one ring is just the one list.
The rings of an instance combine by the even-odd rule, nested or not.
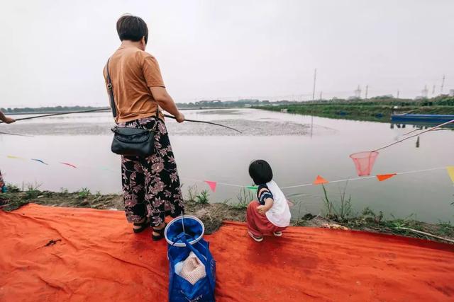
[[(48, 163), (48, 161), (44, 161), (44, 160), (39, 159), (39, 158), (23, 158), (23, 157), (20, 157), (20, 156), (12, 156), (12, 155), (7, 155), (6, 158), (21, 160), (21, 161), (30, 160), (30, 161), (35, 161), (37, 163), (41, 163), (43, 165), (50, 165), (50, 163)], [(84, 167), (82, 165), (75, 165), (74, 163), (68, 163), (66, 161), (60, 161), (58, 163), (61, 164), (61, 165), (66, 165), (68, 168), (74, 168), (74, 169)], [(84, 168), (93, 168), (93, 167), (84, 167)], [(100, 168), (101, 168), (101, 170), (109, 170), (111, 172), (116, 172), (116, 170), (113, 170), (113, 169), (110, 169), (110, 168), (106, 168), (106, 167), (100, 167)], [(328, 183), (348, 182), (348, 181), (355, 181), (355, 180), (365, 180), (365, 179), (370, 179), (370, 178), (377, 178), (377, 180), (379, 182), (383, 182), (385, 180), (389, 180), (390, 178), (394, 178), (394, 176), (396, 176), (396, 175), (404, 175), (404, 174), (410, 174), (410, 173), (421, 173), (421, 172), (432, 171), (432, 170), (441, 170), (441, 169), (446, 169), (447, 170), (450, 179), (454, 183), (454, 165), (450, 165), (450, 166), (447, 166), (447, 167), (428, 168), (428, 169), (422, 169), (422, 170), (411, 170), (411, 171), (398, 172), (398, 173), (377, 174), (377, 175), (372, 175), (372, 176), (362, 176), (362, 177), (359, 177), (359, 178), (344, 178), (344, 179), (340, 179), (340, 180), (331, 180), (331, 181), (326, 180), (326, 178), (323, 178), (321, 175), (317, 175), (315, 180), (314, 180), (314, 182), (304, 183), (304, 184), (301, 184), (301, 185), (292, 185), (292, 186), (288, 186), (288, 187), (281, 187), (281, 189), (285, 190), (285, 189), (291, 189), (291, 188), (295, 188), (295, 187), (309, 187), (311, 185), (326, 185)], [(193, 180), (194, 182), (204, 182), (204, 183), (206, 183), (206, 185), (209, 186), (209, 189), (212, 192), (216, 192), (216, 188), (217, 188), (218, 185), (226, 185), (226, 186), (231, 186), (231, 187), (242, 187), (242, 188), (251, 190), (253, 192), (258, 190), (258, 186), (256, 186), (256, 185), (237, 185), (237, 184), (232, 184), (232, 183), (227, 183), (227, 182), (217, 182), (217, 181), (214, 181), (214, 180), (197, 180), (197, 179), (194, 179), (194, 178), (184, 178), (184, 177), (181, 177), (181, 178), (182, 179), (187, 179), (187, 180)]]

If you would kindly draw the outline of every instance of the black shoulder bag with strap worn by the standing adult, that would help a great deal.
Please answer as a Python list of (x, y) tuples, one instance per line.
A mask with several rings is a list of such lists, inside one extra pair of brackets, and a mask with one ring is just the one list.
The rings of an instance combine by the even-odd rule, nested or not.
[[(109, 59), (110, 60), (110, 59)], [(116, 117), (116, 106), (114, 90), (112, 89), (111, 76), (109, 74), (109, 60), (106, 64), (107, 91), (111, 102), (112, 114)], [(155, 151), (155, 132), (157, 126), (158, 108), (156, 106), (156, 122), (153, 129), (138, 129), (129, 127), (114, 127), (114, 140), (112, 141), (112, 152), (124, 156), (147, 157)]]

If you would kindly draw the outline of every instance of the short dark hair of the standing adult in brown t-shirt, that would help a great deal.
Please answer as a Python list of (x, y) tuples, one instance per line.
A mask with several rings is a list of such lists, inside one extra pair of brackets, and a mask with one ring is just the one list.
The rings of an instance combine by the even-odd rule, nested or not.
[(123, 15), (116, 21), (116, 32), (120, 40), (140, 41), (145, 37), (145, 43), (148, 42), (147, 23), (142, 18), (133, 15)]

